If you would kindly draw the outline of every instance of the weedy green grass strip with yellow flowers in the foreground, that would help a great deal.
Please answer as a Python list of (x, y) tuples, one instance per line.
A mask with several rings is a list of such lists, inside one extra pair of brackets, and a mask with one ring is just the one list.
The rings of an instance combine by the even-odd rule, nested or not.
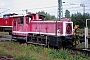
[(15, 42), (0, 42), (0, 54), (10, 54), (18, 60), (89, 60), (81, 53), (75, 53), (66, 49), (56, 50), (43, 46), (19, 44)]

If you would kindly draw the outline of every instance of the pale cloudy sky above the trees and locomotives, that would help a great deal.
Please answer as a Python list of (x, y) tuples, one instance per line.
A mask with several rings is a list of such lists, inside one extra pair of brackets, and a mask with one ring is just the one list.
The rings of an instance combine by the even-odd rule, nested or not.
[[(85, 5), (85, 12), (90, 13), (90, 0), (62, 0), (63, 16), (65, 10), (69, 10), (70, 14), (81, 12)], [(28, 12), (36, 13), (38, 11), (45, 11), (50, 15), (58, 16), (58, 0), (0, 0), (0, 16), (7, 13), (25, 14)]]

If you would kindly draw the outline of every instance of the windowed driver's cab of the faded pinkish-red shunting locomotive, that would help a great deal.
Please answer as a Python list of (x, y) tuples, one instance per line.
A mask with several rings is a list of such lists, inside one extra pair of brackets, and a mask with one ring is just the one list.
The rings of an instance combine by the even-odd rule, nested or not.
[[(27, 33), (32, 30), (32, 21), (43, 21), (45, 16), (39, 15), (39, 14), (28, 14), (26, 16), (23, 15), (16, 15), (13, 16), (13, 36), (19, 35), (22, 38), (17, 38), (17, 39), (23, 39), (23, 37), (27, 36)], [(23, 33), (23, 34), (22, 34)], [(14, 37), (13, 37), (14, 38)], [(16, 37), (15, 37), (16, 38)]]

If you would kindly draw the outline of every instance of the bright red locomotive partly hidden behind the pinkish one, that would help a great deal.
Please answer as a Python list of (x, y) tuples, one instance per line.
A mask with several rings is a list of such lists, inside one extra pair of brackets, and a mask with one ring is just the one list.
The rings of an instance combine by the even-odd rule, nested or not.
[(0, 31), (9, 32), (11, 34), (12, 32), (12, 17), (13, 15), (17, 15), (15, 13), (13, 14), (4, 14), (3, 18), (0, 18)]

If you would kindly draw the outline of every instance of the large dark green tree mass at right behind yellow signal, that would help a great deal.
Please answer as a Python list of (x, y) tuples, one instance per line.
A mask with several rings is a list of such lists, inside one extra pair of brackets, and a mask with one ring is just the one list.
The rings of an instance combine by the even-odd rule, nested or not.
[[(79, 25), (80, 28), (85, 27), (86, 19), (89, 18), (90, 18), (90, 14), (88, 13), (85, 13), (84, 16), (79, 12), (71, 15), (71, 20), (73, 21), (74, 25)], [(88, 25), (90, 25), (90, 22), (88, 22)]]

